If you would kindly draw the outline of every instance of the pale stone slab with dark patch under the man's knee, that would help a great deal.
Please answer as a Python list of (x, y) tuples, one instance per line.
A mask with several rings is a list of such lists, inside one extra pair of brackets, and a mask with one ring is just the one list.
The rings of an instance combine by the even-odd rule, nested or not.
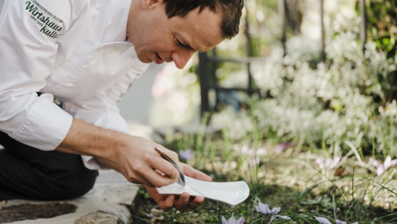
[[(17, 221), (3, 223), (132, 223), (128, 207), (132, 204), (138, 190), (138, 185), (129, 183), (121, 174), (112, 170), (100, 171), (93, 189), (82, 197), (51, 202), (10, 200), (0, 211), (0, 220), (2, 214), (5, 217), (7, 211), (9, 213), (12, 211), (15, 214), (14, 220)], [(60, 210), (61, 214), (59, 213)], [(32, 217), (35, 212), (43, 216), (47, 215), (45, 217), (48, 218), (42, 218), (43, 216)], [(24, 214), (27, 219), (22, 220)]]

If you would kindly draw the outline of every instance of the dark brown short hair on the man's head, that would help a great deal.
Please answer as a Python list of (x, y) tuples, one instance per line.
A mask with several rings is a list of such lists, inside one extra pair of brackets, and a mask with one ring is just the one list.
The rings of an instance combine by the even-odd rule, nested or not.
[(168, 18), (184, 17), (198, 8), (202, 12), (208, 8), (222, 16), (220, 29), (224, 38), (231, 39), (239, 33), (239, 24), (244, 0), (164, 0), (165, 13)]

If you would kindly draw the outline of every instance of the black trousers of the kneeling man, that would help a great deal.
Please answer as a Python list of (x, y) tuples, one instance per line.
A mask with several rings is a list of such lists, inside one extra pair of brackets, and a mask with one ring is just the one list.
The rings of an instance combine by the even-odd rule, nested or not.
[(0, 201), (65, 200), (87, 193), (98, 171), (87, 169), (79, 155), (42, 151), (0, 131)]

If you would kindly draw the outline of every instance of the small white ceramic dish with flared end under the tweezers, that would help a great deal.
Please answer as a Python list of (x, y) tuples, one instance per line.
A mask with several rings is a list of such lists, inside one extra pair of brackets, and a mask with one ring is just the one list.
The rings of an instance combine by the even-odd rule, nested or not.
[(168, 186), (157, 187), (157, 192), (161, 194), (182, 194), (183, 192), (188, 192), (191, 196), (200, 195), (231, 206), (242, 203), (249, 195), (248, 185), (244, 181), (208, 182), (188, 176), (185, 176), (185, 181), (185, 186), (173, 183)]

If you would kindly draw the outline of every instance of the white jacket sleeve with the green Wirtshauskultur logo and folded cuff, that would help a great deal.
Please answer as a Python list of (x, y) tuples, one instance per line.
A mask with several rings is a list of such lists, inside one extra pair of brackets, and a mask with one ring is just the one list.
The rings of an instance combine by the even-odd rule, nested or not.
[(87, 1), (6, 0), (0, 15), (0, 130), (17, 141), (53, 150), (72, 116), (37, 95), (56, 60), (56, 38), (69, 29)]

